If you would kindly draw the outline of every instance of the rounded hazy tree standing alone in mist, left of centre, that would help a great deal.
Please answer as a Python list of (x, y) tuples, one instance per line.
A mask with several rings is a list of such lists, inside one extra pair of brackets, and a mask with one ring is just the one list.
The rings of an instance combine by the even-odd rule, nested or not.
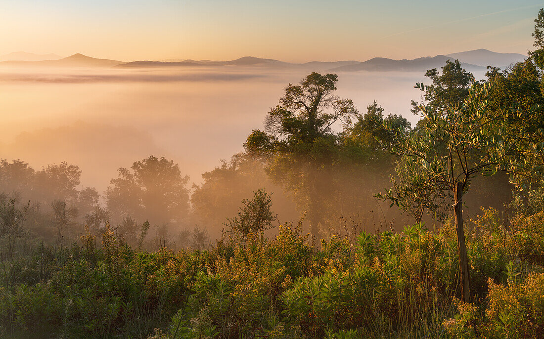
[(131, 169), (119, 168), (119, 178), (110, 181), (106, 192), (108, 209), (118, 218), (180, 223), (189, 209), (188, 182), (174, 161), (150, 156)]

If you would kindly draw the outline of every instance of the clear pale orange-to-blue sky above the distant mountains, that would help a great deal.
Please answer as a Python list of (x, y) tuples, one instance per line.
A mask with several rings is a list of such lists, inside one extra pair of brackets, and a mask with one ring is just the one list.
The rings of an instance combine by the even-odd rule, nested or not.
[(0, 0), (0, 54), (132, 60), (527, 53), (543, 1)]

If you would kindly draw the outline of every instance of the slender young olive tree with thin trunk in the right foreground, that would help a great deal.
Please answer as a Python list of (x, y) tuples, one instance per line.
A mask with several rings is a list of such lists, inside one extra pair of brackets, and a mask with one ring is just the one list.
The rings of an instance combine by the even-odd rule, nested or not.
[[(426, 96), (434, 96), (434, 87), (417, 84)], [(393, 153), (403, 158), (403, 180), (382, 198), (406, 206), (413, 194), (451, 194), (458, 239), (459, 268), (463, 299), (471, 302), (469, 265), (463, 229), (463, 196), (477, 175), (490, 176), (499, 171), (516, 174), (526, 166), (526, 143), (509, 139), (506, 133), (508, 111), (489, 110), (491, 86), (472, 83), (462, 104), (420, 105), (423, 130), (399, 137)], [(518, 117), (531, 112), (517, 111)], [(386, 126), (394, 133), (401, 131)]]

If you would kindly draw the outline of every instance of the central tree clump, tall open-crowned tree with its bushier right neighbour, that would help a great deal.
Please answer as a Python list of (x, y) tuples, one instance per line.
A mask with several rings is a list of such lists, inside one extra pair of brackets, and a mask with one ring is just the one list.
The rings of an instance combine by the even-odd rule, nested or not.
[(384, 117), (376, 102), (359, 114), (351, 100), (335, 95), (336, 82), (335, 74), (314, 72), (289, 84), (264, 131), (252, 131), (244, 144), (268, 176), (292, 193), (299, 211), (307, 212), (316, 236), (326, 226), (338, 230), (338, 215), (372, 219), (368, 206), (381, 208), (372, 194), (387, 183), (393, 159), (376, 139), (391, 143), (397, 137), (384, 122), (405, 133), (410, 128), (401, 116)]

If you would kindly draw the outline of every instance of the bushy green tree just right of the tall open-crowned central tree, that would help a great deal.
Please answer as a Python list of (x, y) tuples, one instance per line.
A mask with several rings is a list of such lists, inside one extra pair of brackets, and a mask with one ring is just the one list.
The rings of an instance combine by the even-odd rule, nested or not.
[(401, 217), (397, 211), (390, 211), (386, 218), (381, 213), (385, 204), (376, 201), (374, 194), (389, 184), (394, 169), (394, 156), (384, 145), (390, 145), (396, 136), (384, 128), (384, 123), (398, 126), (405, 133), (410, 131), (410, 123), (399, 115), (385, 115), (384, 111), (374, 101), (340, 135), (338, 159), (331, 171), (334, 190), (322, 194), (327, 200), (327, 224), (333, 228), (343, 227), (345, 220), (351, 219), (362, 229), (374, 230), (380, 227), (374, 212), (382, 227), (392, 226)]

